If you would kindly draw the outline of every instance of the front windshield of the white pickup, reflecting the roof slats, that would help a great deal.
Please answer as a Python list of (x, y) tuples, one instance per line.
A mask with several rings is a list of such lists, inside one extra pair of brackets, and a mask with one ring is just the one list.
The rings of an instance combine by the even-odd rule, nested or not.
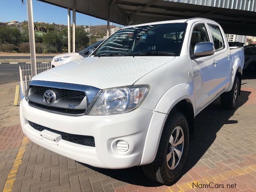
[(103, 42), (94, 56), (179, 56), (186, 23), (124, 28)]

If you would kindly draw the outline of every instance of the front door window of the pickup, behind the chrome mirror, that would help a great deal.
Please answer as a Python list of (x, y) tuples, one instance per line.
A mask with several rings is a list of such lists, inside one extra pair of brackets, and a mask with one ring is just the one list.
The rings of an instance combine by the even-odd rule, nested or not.
[(194, 56), (195, 45), (199, 42), (210, 42), (205, 25), (196, 25), (193, 29), (190, 41), (190, 56)]

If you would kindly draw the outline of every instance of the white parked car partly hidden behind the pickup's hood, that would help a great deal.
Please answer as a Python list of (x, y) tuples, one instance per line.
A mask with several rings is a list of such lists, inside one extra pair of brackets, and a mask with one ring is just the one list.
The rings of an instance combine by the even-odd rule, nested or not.
[(91, 53), (92, 50), (94, 50), (95, 48), (97, 48), (100, 44), (102, 43), (102, 41), (98, 41), (95, 44), (85, 48), (84, 50), (78, 52), (78, 53), (64, 53), (64, 54), (60, 54), (55, 56), (52, 59), (52, 68), (53, 67), (58, 67), (60, 65), (78, 60), (78, 59), (83, 59), (85, 57), (88, 57)]

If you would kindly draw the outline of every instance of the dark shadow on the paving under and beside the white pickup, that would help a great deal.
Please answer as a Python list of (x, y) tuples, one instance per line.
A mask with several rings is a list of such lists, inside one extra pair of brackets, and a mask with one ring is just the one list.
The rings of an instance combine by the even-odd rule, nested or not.
[[(241, 91), (238, 99), (236, 109), (242, 106), (248, 100), (248, 96), (251, 92)], [(237, 120), (229, 120), (234, 115), (234, 110), (225, 110), (220, 106), (220, 98), (217, 98), (208, 107), (206, 107), (200, 114), (196, 116), (195, 121), (195, 139), (190, 141), (188, 156), (183, 172), (180, 177), (175, 181), (177, 182), (188, 170), (190, 170), (210, 148), (214, 140), (216, 139), (216, 133), (222, 128), (224, 124), (236, 124)], [(85, 164), (84, 164), (85, 165)], [(127, 169), (110, 170), (95, 168), (89, 165), (85, 165), (88, 168), (121, 180), (128, 184), (135, 184), (140, 186), (162, 186), (157, 182), (152, 182), (142, 172), (140, 166), (135, 166)], [(175, 183), (174, 182), (174, 183)], [(174, 184), (173, 183), (173, 184)]]

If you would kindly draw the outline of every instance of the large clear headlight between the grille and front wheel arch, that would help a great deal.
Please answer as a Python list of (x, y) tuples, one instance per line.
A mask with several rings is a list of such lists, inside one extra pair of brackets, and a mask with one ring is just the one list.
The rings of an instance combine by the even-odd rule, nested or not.
[(136, 109), (148, 94), (149, 86), (128, 86), (100, 91), (89, 115), (121, 114)]

